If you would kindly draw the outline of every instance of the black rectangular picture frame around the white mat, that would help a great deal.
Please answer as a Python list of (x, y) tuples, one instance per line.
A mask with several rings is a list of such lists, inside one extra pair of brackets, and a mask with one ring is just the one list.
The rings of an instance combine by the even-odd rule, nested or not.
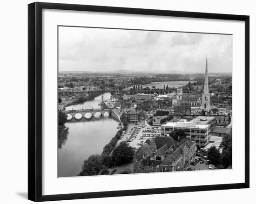
[[(128, 13), (155, 16), (189, 17), (245, 22), (245, 182), (183, 186), (126, 191), (84, 192), (42, 195), (42, 9)], [(216, 13), (196, 13), (141, 8), (103, 7), (35, 2), (28, 5), (28, 199), (53, 201), (97, 197), (134, 196), (188, 191), (211, 191), (249, 188), (249, 16)]]

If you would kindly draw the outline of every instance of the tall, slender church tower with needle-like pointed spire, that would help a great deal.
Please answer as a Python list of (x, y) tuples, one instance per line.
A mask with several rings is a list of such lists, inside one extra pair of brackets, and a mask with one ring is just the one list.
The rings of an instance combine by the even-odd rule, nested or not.
[(204, 75), (204, 89), (202, 94), (202, 115), (210, 115), (210, 94), (208, 84), (208, 64), (206, 56), (205, 75)]

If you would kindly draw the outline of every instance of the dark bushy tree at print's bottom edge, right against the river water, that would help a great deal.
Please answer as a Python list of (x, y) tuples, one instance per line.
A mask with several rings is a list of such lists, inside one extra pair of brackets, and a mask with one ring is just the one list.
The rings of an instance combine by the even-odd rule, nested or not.
[(101, 167), (101, 156), (98, 154), (93, 154), (87, 160), (84, 161), (82, 171), (78, 174), (78, 176), (98, 175), (99, 171), (101, 170)]

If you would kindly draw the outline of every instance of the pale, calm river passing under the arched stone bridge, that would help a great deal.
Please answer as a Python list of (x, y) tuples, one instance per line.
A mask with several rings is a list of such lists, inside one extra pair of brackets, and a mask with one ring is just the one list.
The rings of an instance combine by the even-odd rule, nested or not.
[[(110, 99), (110, 93), (103, 95), (104, 100)], [(97, 108), (101, 96), (83, 104), (72, 105), (75, 109)], [(76, 176), (82, 170), (82, 164), (92, 154), (101, 154), (103, 147), (118, 131), (118, 122), (113, 118), (101, 117), (90, 120), (65, 123), (67, 135), (59, 140), (58, 177)]]

